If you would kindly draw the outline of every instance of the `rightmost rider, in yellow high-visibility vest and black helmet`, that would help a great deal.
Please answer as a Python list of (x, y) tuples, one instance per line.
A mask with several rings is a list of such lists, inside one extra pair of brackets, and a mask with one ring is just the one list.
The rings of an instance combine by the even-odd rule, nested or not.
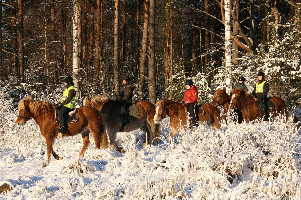
[(255, 98), (258, 99), (257, 106), (259, 108), (259, 111), (261, 112), (261, 118), (263, 118), (264, 121), (268, 121), (268, 111), (267, 111), (267, 98), (266, 95), (268, 93), (268, 90), (270, 89), (270, 84), (266, 82), (264, 79), (264, 73), (259, 72), (257, 74), (258, 76), (258, 82), (255, 84), (252, 95), (255, 96)]

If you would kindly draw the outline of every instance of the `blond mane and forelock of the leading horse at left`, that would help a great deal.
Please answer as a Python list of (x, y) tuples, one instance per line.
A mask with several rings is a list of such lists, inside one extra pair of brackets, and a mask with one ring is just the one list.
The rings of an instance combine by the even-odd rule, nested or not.
[(41, 99), (32, 99), (30, 95), (27, 95), (25, 99), (21, 99), (18, 105), (18, 110), (25, 110), (25, 101), (29, 100), (28, 107), (33, 115), (39, 115), (43, 112), (47, 112), (52, 108), (52, 104), (48, 101)]

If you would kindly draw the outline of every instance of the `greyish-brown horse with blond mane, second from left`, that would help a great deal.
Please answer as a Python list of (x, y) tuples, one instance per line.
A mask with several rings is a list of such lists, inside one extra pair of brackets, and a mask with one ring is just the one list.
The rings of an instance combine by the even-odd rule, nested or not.
[[(122, 125), (122, 117), (119, 113), (119, 105), (116, 101), (104, 95), (87, 96), (84, 99), (84, 105), (92, 106), (101, 112), (106, 124), (107, 134), (110, 138), (111, 147), (116, 148), (120, 152), (124, 152), (122, 148), (115, 144), (116, 133), (120, 131)], [(143, 148), (147, 143), (152, 141), (156, 145), (156, 141), (161, 136), (161, 126), (154, 123), (155, 106), (148, 101), (139, 101), (136, 103), (139, 115), (129, 116), (130, 123), (126, 125), (122, 132), (141, 129), (145, 138)]]

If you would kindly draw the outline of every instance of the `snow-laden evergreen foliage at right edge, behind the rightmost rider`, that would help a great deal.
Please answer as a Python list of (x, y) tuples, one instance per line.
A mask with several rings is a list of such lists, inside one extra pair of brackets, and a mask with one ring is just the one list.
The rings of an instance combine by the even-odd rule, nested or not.
[(264, 72), (270, 84), (269, 93), (293, 104), (299, 102), (301, 94), (300, 57), (300, 31), (293, 28), (285, 33), (279, 44), (275, 44), (275, 39), (260, 44), (254, 61), (247, 63), (249, 69), (246, 72), (253, 72), (255, 80), (259, 71)]

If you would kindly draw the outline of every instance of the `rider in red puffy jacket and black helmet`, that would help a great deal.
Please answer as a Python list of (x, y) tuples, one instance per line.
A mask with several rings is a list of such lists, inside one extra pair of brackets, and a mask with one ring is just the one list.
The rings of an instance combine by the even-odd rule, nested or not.
[(188, 107), (189, 117), (191, 117), (191, 126), (195, 126), (197, 115), (195, 108), (197, 106), (197, 87), (193, 84), (192, 80), (185, 81), (184, 98), (181, 103)]

